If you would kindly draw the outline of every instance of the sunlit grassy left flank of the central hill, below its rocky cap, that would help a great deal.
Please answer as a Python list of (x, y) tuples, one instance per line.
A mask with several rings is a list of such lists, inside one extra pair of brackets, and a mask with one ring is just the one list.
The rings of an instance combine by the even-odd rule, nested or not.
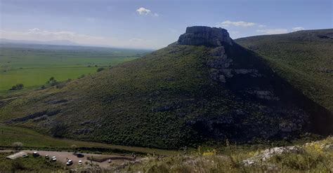
[[(63, 109), (63, 116), (56, 117), (59, 122), (65, 120), (63, 123), (78, 130), (93, 131), (77, 134), (77, 139), (144, 146), (180, 145), (179, 140), (188, 137), (182, 136), (186, 131), (181, 129), (181, 117), (175, 117), (173, 112), (154, 113), (151, 109), (164, 104), (191, 102), (188, 99), (202, 92), (200, 84), (207, 82), (207, 78), (200, 78), (202, 70), (198, 68), (202, 62), (197, 60), (204, 50), (204, 47), (191, 46), (165, 48), (140, 60), (113, 67), (110, 71), (72, 81), (61, 90), (51, 88), (32, 92), (11, 102), (10, 107), (1, 109), (1, 120), (43, 111), (51, 106), (49, 109)], [(170, 51), (175, 53), (171, 55)], [(68, 99), (70, 102), (67, 106), (49, 105), (44, 99)], [(31, 106), (34, 109), (28, 109)], [(13, 109), (17, 111), (14, 113)], [(185, 115), (188, 109), (181, 111)], [(146, 115), (147, 112), (150, 114)], [(81, 127), (80, 123), (84, 122), (88, 123)], [(26, 125), (31, 127), (35, 124)], [(155, 131), (157, 127), (163, 131)], [(165, 137), (171, 140), (165, 143)]]

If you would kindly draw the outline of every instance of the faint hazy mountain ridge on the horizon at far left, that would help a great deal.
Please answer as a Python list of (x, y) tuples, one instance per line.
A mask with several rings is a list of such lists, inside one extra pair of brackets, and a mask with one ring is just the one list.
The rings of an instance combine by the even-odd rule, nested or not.
[(68, 40), (27, 41), (27, 40), (0, 39), (0, 43), (25, 43), (25, 44), (43, 44), (43, 45), (79, 46), (78, 43), (74, 43), (74, 42), (68, 41)]

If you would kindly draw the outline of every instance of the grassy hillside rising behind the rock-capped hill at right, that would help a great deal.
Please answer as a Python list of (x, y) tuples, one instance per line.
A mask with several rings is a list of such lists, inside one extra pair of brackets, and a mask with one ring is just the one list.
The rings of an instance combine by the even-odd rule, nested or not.
[(332, 112), (333, 74), (320, 71), (320, 68), (333, 69), (332, 35), (333, 29), (322, 29), (235, 41), (258, 53), (295, 88)]

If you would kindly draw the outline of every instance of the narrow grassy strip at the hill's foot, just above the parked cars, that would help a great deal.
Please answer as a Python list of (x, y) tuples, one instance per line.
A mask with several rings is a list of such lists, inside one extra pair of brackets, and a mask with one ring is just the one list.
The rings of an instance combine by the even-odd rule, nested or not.
[(0, 125), (0, 148), (18, 149), (16, 143), (22, 144), (20, 148), (36, 148), (39, 150), (52, 151), (72, 151), (74, 149), (86, 152), (99, 151), (105, 153), (156, 153), (159, 155), (175, 155), (178, 153), (177, 151), (166, 151), (155, 148), (117, 146), (89, 141), (57, 139), (23, 127)]

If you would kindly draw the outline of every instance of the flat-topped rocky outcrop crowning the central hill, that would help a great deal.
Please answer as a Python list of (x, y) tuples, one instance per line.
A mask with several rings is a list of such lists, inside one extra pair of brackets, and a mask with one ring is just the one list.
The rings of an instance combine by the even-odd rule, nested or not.
[(192, 46), (233, 45), (226, 29), (217, 27), (187, 27), (185, 34), (179, 36), (178, 44)]

